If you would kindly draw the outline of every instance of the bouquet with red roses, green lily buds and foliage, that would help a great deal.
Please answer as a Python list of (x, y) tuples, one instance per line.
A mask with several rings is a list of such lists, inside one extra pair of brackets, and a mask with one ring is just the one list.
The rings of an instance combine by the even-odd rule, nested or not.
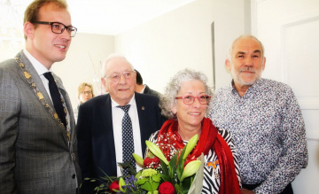
[(183, 151), (176, 151), (175, 155), (168, 161), (156, 144), (146, 141), (146, 146), (149, 150), (146, 159), (142, 159), (142, 157), (133, 153), (136, 164), (144, 167), (144, 169), (136, 173), (130, 164), (120, 163), (123, 168), (128, 169), (131, 175), (119, 178), (105, 175), (105, 177), (101, 177), (101, 179), (85, 178), (84, 180), (90, 182), (96, 182), (98, 180), (103, 182), (95, 188), (94, 191), (96, 193), (200, 193), (204, 177), (203, 154), (197, 160), (192, 160), (184, 166), (187, 156), (197, 142), (198, 135), (193, 136), (189, 143), (184, 146)]

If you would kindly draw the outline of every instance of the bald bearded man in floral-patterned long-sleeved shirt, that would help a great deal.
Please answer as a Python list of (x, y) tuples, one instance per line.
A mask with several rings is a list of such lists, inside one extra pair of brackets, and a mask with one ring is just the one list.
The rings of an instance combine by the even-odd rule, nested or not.
[(261, 78), (264, 53), (253, 35), (232, 43), (225, 62), (232, 81), (216, 91), (210, 118), (234, 136), (242, 193), (293, 193), (291, 182), (307, 167), (305, 123), (292, 89)]

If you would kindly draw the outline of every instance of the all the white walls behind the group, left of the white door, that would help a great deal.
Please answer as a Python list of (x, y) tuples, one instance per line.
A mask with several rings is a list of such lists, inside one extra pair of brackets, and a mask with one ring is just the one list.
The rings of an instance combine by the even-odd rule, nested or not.
[[(177, 71), (192, 68), (204, 72), (213, 86), (213, 50), (211, 24), (215, 25), (216, 88), (230, 81), (224, 69), (225, 53), (231, 40), (245, 32), (245, 0), (197, 0), (175, 11), (152, 19), (120, 35), (78, 33), (71, 43), (66, 59), (53, 66), (72, 105), (78, 104), (77, 87), (87, 81), (100, 90), (93, 65), (100, 74), (100, 63), (116, 51), (124, 54), (142, 74), (144, 83), (163, 92), (167, 81)], [(20, 35), (21, 36), (21, 35)], [(19, 41), (21, 43), (21, 41)], [(12, 58), (21, 49), (8, 50), (0, 45), (1, 60)]]

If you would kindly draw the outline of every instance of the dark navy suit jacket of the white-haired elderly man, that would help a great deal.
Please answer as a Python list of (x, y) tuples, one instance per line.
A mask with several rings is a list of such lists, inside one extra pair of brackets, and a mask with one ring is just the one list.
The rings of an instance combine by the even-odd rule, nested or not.
[[(135, 93), (135, 98), (144, 152), (145, 140), (159, 130), (165, 118), (160, 114), (158, 97)], [(101, 169), (109, 176), (116, 176), (117, 164), (109, 94), (93, 97), (80, 105), (76, 129), (82, 178), (105, 176)]]

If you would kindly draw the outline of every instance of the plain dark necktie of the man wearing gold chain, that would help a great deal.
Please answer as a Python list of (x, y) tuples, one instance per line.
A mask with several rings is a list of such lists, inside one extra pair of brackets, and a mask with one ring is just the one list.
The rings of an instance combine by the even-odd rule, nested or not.
[(47, 72), (43, 75), (49, 81), (49, 89), (50, 89), (50, 94), (51, 94), (52, 102), (54, 105), (54, 109), (58, 113), (58, 118), (61, 120), (63, 125), (66, 127), (66, 113), (65, 113), (64, 107), (62, 105), (60, 93), (58, 92), (57, 83), (54, 81), (54, 78), (53, 78), (51, 72)]

